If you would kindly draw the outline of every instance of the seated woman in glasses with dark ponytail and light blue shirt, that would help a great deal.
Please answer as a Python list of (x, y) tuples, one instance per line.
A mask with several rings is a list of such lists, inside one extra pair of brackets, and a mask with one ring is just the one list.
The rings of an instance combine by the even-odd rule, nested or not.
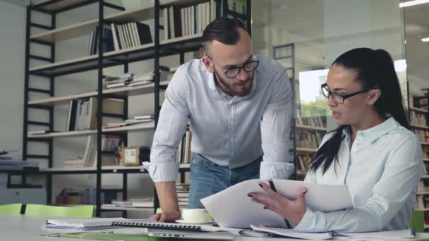
[(382, 49), (352, 49), (329, 70), (322, 92), (337, 130), (323, 137), (304, 182), (349, 187), (353, 209), (324, 213), (296, 200), (251, 192), (254, 202), (303, 232), (344, 233), (409, 228), (423, 170), (421, 145), (409, 130), (392, 58)]

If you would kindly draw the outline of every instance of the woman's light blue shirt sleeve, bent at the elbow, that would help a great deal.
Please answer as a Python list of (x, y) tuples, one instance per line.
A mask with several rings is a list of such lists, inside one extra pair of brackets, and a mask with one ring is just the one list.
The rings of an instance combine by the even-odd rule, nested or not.
[[(422, 174), (420, 142), (413, 136), (385, 163), (373, 196), (363, 206), (324, 213), (307, 208), (295, 230), (301, 232), (335, 231), (357, 233), (380, 231), (397, 214), (411, 194), (416, 192)], [(312, 179), (306, 177), (308, 181)]]

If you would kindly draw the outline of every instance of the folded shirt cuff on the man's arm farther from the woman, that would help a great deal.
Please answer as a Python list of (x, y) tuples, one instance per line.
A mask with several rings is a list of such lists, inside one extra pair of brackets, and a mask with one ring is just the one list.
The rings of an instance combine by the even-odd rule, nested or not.
[(143, 162), (143, 166), (147, 169), (147, 172), (154, 183), (176, 182), (180, 163), (151, 163), (145, 161)]

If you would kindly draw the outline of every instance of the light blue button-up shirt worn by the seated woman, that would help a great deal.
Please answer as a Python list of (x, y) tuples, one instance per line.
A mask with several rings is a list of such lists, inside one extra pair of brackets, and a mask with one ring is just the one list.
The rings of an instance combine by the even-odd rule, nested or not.
[[(344, 129), (338, 159), (322, 175), (310, 171), (305, 182), (347, 185), (353, 209), (323, 213), (307, 208), (295, 230), (368, 232), (409, 228), (418, 181), (423, 173), (421, 143), (394, 118), (358, 131), (350, 148)], [(325, 135), (322, 143), (332, 134)]]

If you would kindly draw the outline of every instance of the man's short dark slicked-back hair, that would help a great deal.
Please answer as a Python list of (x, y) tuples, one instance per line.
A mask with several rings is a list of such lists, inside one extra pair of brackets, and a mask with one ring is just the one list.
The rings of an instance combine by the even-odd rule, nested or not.
[(222, 44), (236, 44), (238, 42), (238, 28), (246, 30), (242, 23), (231, 18), (220, 17), (213, 20), (203, 31), (205, 52), (207, 53), (207, 47), (213, 40)]

